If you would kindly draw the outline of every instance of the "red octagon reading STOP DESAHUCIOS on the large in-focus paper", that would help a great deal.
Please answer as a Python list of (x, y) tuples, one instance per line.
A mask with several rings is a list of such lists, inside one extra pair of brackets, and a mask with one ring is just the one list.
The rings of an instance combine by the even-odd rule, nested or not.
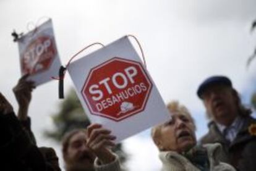
[(81, 93), (92, 114), (120, 121), (145, 109), (151, 88), (139, 62), (114, 57), (90, 70)]

